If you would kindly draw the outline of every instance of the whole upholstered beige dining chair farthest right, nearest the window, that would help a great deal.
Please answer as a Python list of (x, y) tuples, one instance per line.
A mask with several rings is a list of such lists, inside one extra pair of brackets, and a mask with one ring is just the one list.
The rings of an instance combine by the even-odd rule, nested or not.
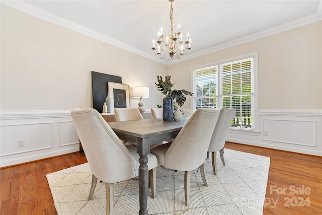
[(229, 127), (231, 125), (232, 118), (235, 114), (235, 109), (232, 108), (221, 108), (219, 117), (213, 131), (208, 152), (211, 153), (212, 169), (215, 175), (217, 172), (217, 151), (219, 151), (220, 159), (222, 164), (225, 166), (223, 159), (223, 147), (225, 146), (226, 138), (228, 135)]

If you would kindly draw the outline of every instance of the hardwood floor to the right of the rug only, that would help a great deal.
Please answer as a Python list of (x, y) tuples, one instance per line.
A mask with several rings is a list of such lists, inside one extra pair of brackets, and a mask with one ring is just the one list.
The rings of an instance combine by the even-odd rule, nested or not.
[(263, 214), (322, 214), (322, 157), (231, 142), (225, 148), (270, 157)]

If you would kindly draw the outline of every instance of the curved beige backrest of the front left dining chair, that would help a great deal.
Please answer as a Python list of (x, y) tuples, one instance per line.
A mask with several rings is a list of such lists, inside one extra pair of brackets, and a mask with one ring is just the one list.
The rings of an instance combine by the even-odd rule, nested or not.
[(137, 162), (95, 109), (73, 109), (71, 118), (92, 173), (106, 183), (136, 176)]

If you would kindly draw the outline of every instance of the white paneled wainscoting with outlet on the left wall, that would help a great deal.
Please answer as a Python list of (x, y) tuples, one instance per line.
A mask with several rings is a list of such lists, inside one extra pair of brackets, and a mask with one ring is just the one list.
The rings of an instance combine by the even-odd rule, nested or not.
[(70, 110), (2, 111), (0, 120), (0, 167), (79, 151)]

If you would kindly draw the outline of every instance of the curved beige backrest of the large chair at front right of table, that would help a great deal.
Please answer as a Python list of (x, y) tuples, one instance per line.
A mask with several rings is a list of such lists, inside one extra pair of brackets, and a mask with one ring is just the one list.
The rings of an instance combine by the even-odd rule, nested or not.
[(165, 156), (165, 167), (192, 171), (201, 166), (205, 162), (218, 116), (218, 109), (197, 109), (169, 147)]

